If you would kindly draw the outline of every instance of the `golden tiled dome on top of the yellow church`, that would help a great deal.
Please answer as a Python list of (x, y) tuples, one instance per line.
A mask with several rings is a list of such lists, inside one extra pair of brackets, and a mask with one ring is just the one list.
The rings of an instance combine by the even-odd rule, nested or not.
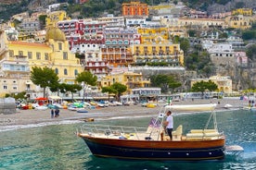
[(45, 41), (53, 39), (54, 41), (64, 42), (66, 41), (66, 36), (62, 30), (56, 27), (50, 27), (46, 30)]

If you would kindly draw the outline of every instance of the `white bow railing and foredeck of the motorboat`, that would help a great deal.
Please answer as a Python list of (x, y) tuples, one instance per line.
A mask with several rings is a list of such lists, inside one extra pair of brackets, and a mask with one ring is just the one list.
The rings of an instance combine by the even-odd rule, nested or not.
[[(150, 133), (147, 128), (134, 128), (124, 126), (109, 126), (109, 125), (93, 125), (84, 124), (78, 130), (81, 134), (87, 134), (93, 137), (105, 136), (106, 138), (118, 137), (120, 139), (128, 139), (133, 137), (134, 140), (144, 140), (150, 138)], [(144, 134), (143, 136), (141, 134)]]

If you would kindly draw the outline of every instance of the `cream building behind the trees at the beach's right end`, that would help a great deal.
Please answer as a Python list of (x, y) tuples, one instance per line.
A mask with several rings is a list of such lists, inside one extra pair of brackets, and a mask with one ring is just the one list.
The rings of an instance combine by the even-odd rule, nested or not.
[(212, 76), (209, 79), (191, 79), (191, 88), (194, 83), (198, 81), (209, 81), (211, 80), (218, 86), (218, 91), (223, 91), (224, 93), (232, 93), (232, 79), (228, 76)]

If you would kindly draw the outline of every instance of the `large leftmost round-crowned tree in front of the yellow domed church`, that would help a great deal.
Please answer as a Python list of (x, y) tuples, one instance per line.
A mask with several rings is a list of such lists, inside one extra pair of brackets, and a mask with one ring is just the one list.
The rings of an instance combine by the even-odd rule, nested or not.
[(49, 67), (32, 67), (31, 80), (44, 89), (44, 97), (46, 87), (56, 87), (59, 82), (58, 75)]

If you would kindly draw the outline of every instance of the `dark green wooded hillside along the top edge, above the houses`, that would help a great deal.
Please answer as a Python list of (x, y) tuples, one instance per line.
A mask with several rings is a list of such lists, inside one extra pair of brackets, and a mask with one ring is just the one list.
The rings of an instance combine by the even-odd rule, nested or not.
[[(79, 14), (78, 18), (99, 17), (104, 12), (115, 15), (121, 14), (121, 6), (123, 2), (131, 0), (91, 0), (83, 5), (74, 4), (74, 0), (0, 0), (0, 19), (8, 20), (15, 14), (24, 11), (34, 11), (39, 7), (46, 7), (54, 3), (70, 3), (68, 14)], [(176, 3), (178, 0), (173, 0)], [(198, 10), (207, 11), (209, 14), (230, 11), (239, 7), (252, 7), (256, 9), (255, 0), (181, 0), (186, 6)], [(148, 5), (159, 5), (167, 0), (141, 0)], [(171, 1), (172, 2), (172, 1)]]

